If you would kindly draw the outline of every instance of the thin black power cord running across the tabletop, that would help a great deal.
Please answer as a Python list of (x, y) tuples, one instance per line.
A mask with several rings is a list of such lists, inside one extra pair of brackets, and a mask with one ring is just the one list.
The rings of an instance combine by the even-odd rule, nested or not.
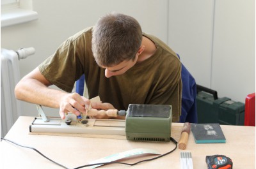
[[(162, 155), (157, 156), (156, 158), (144, 159), (144, 160), (138, 161), (138, 162), (136, 162), (136, 163), (122, 163), (122, 162), (95, 163), (95, 164), (91, 164), (91, 165), (78, 166), (78, 167), (76, 167), (76, 168), (74, 168), (74, 169), (84, 168), (84, 167), (87, 167), (87, 166), (109, 165), (109, 164), (121, 164), (121, 165), (130, 165), (130, 166), (133, 166), (133, 165), (137, 165), (138, 163), (143, 163), (143, 162), (145, 162), (145, 161), (152, 161), (152, 160), (154, 160), (154, 159), (158, 159), (158, 158), (161, 158), (161, 157), (163, 157), (163, 156), (166, 156), (166, 155), (172, 153), (173, 151), (175, 151), (175, 150), (177, 149), (178, 142), (177, 142), (174, 138), (172, 138), (172, 137), (171, 137), (170, 139), (171, 139), (171, 141), (172, 141), (173, 143), (175, 143), (175, 148), (172, 149), (172, 151), (169, 151), (169, 152), (166, 152), (165, 154), (162, 154)], [(15, 143), (15, 142), (13, 142), (13, 141), (11, 141), (11, 140), (8, 140), (8, 139), (6, 139), (6, 138), (1, 138), (1, 140), (5, 140), (5, 141), (7, 141), (7, 142), (11, 142), (11, 143), (13, 143), (13, 144), (15, 144), (15, 145), (19, 145), (20, 147), (32, 149), (33, 151), (38, 152), (38, 154), (40, 154), (40, 155), (43, 156), (44, 158), (48, 159), (48, 160), (51, 161), (52, 163), (54, 163), (54, 164), (56, 164), (56, 165), (58, 165), (58, 166), (61, 166), (61, 167), (63, 167), (63, 168), (68, 169), (66, 166), (63, 166), (63, 165), (61, 165), (60, 163), (57, 163), (56, 161), (53, 161), (52, 159), (47, 158), (46, 156), (44, 156), (44, 154), (42, 154), (40, 151), (36, 150), (36, 149), (33, 148), (33, 147), (28, 147), (28, 146), (20, 145), (19, 143)]]

